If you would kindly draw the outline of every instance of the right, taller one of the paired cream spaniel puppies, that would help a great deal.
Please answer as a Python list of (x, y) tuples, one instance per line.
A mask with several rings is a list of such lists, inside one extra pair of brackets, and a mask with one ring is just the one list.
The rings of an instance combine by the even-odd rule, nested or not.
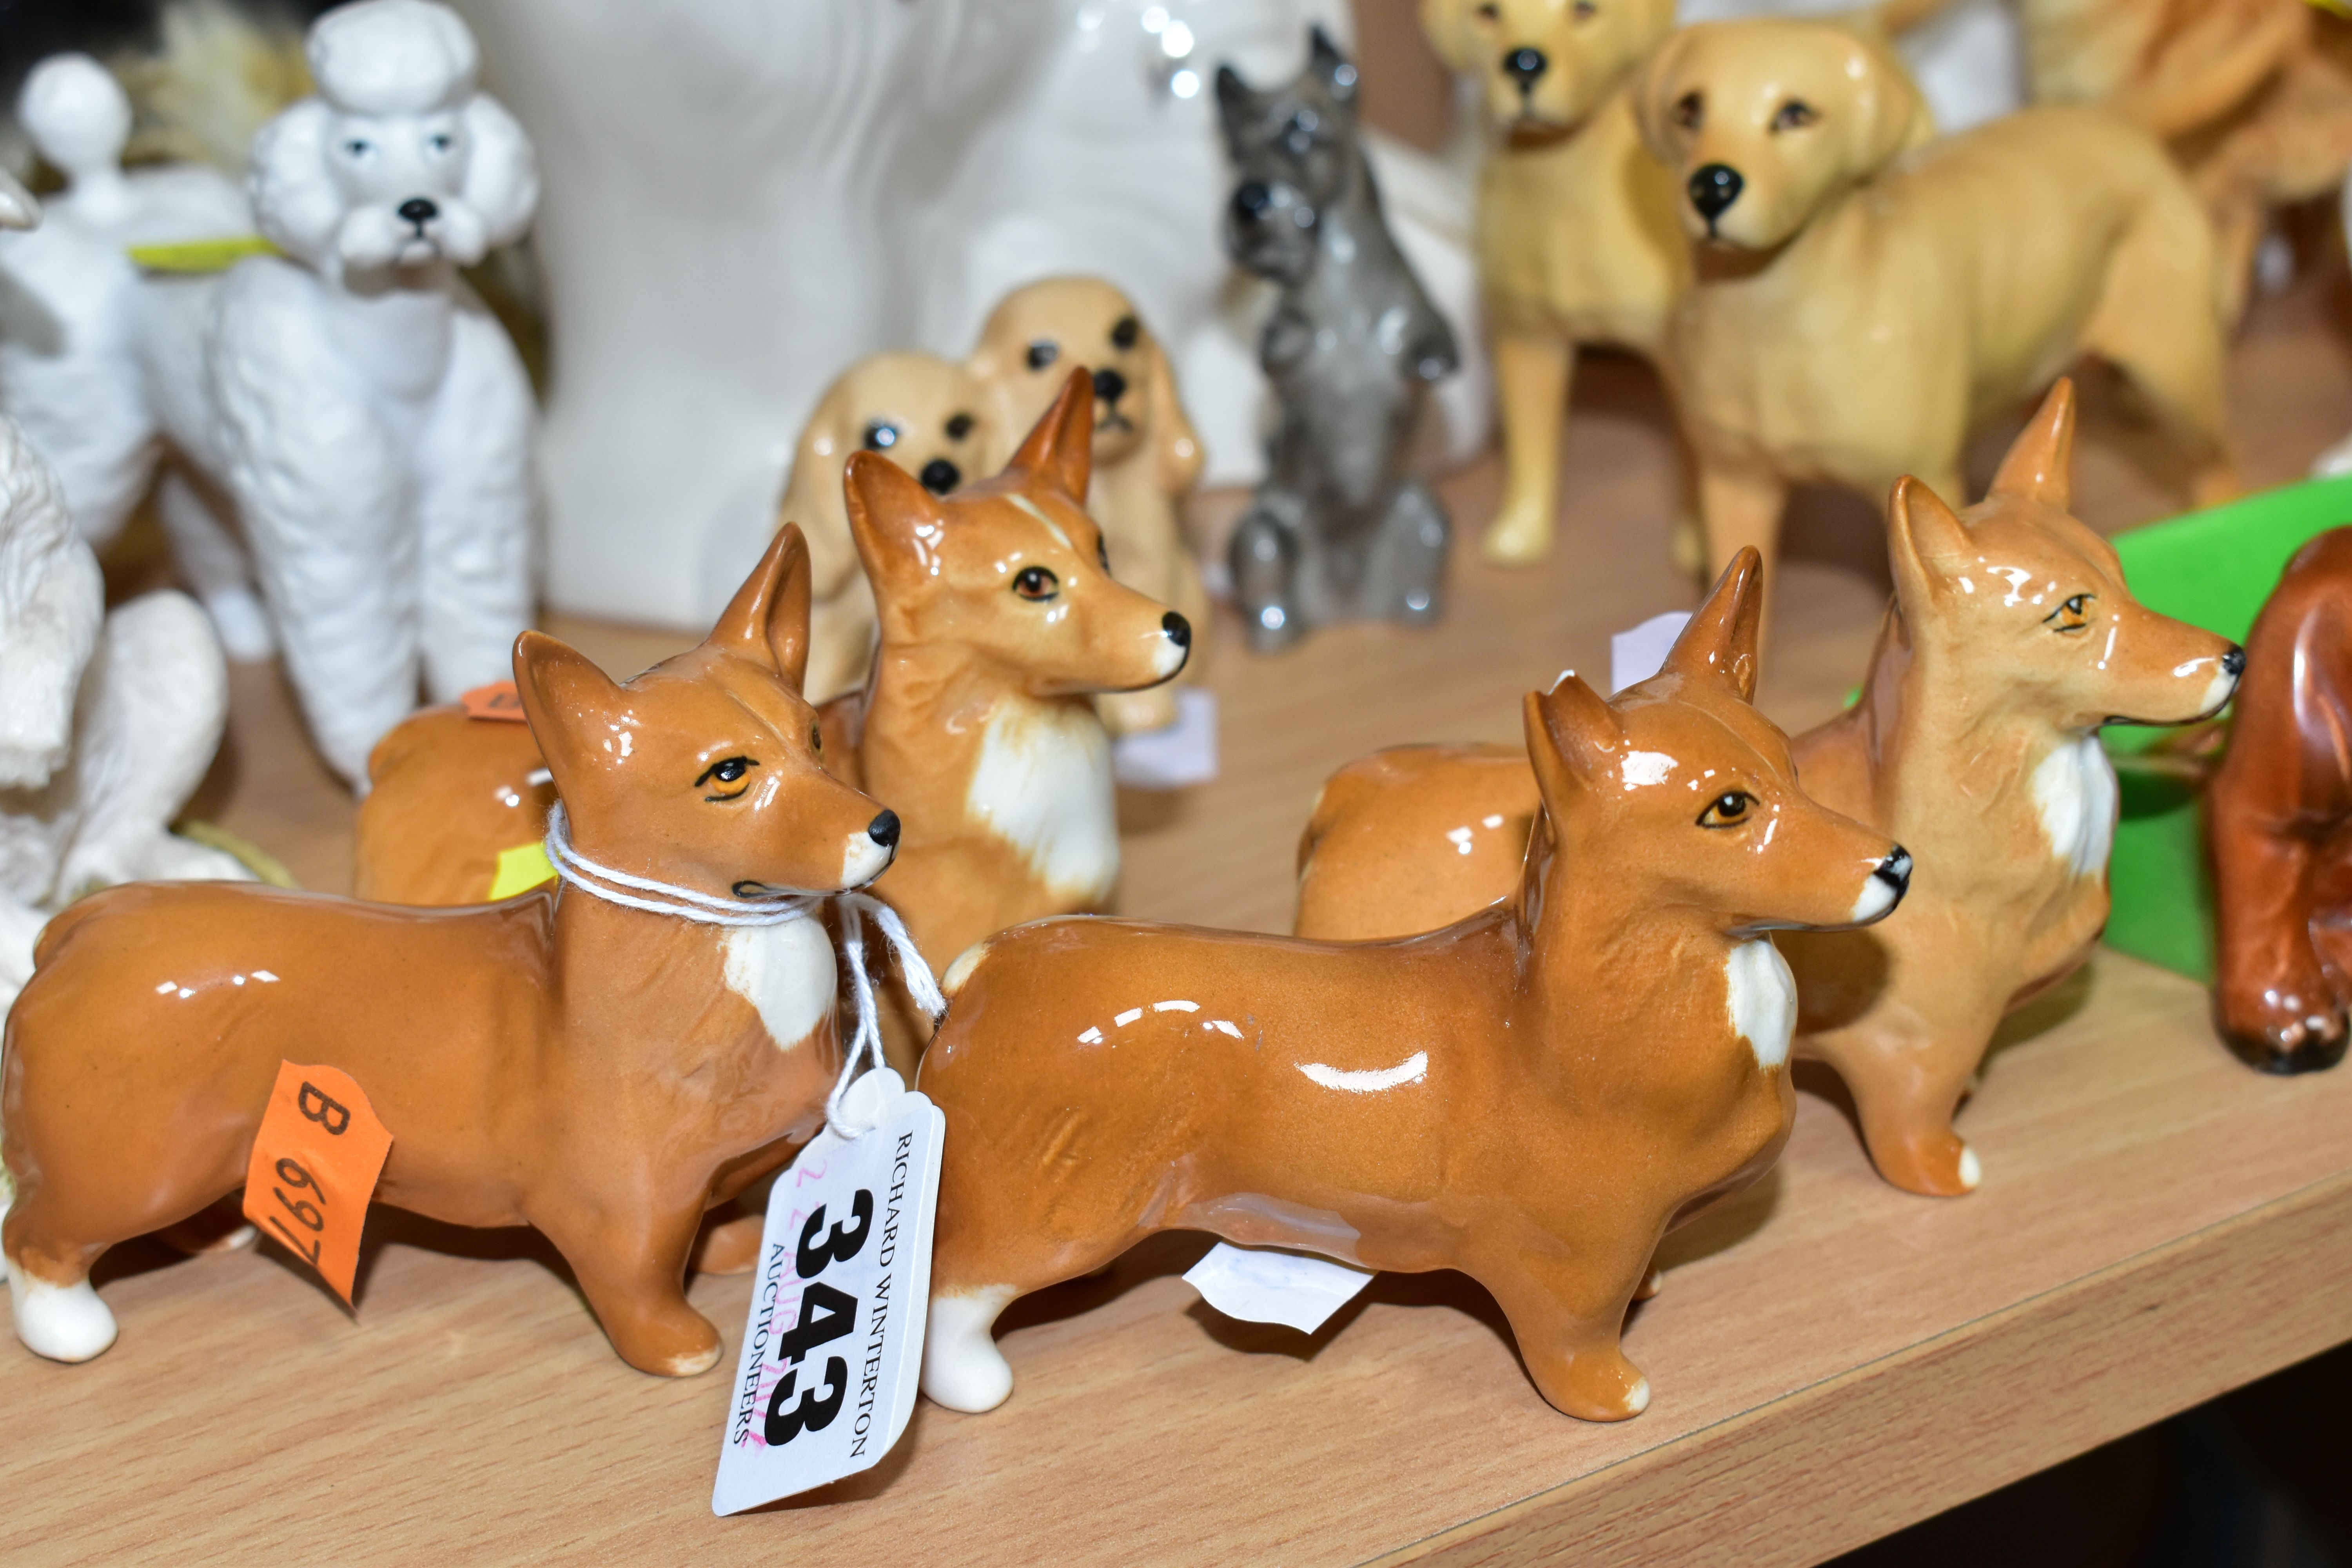
[[(1103, 524), (1110, 571), (1209, 623), (1209, 592), (1185, 543), (1178, 503), (1200, 482), (1202, 449), (1176, 397), (1176, 376), (1136, 303), (1101, 277), (1047, 277), (1007, 294), (964, 367), (990, 395), (1000, 430), (1028, 430), (1051, 407), (1070, 369), (1094, 371), (1094, 484), (1087, 512)], [(1176, 722), (1174, 682), (1096, 698), (1115, 736)]]

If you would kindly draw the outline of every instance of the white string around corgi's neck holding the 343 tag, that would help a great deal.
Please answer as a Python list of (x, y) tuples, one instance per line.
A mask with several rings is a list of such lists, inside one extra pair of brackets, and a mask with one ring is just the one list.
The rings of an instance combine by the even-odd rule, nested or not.
[(856, 1011), (856, 1030), (849, 1037), (849, 1048), (842, 1053), (842, 1074), (833, 1081), (833, 1093), (826, 1095), (826, 1126), (840, 1140), (851, 1140), (866, 1128), (847, 1128), (842, 1124), (842, 1095), (849, 1084), (858, 1079), (858, 1063), (870, 1067), (882, 1065), (882, 1020), (880, 1006), (875, 1001), (873, 976), (866, 973), (866, 919), (870, 917), (882, 926), (882, 940), (891, 957), (898, 961), (898, 978), (906, 980), (906, 990), (915, 997), (931, 1023), (938, 1023), (948, 1011), (948, 999), (938, 992), (938, 980), (931, 978), (931, 966), (922, 961), (922, 952), (915, 950), (915, 938), (906, 933), (906, 922), (898, 919), (898, 910), (889, 907), (873, 893), (842, 891), (842, 893), (811, 893), (804, 889), (781, 889), (767, 893), (753, 893), (748, 898), (713, 898), (710, 893), (699, 893), (675, 882), (656, 882), (654, 877), (635, 877), (612, 865), (600, 865), (588, 856), (572, 849), (572, 825), (564, 820), (564, 804), (555, 802), (548, 811), (548, 837), (543, 844), (548, 853), (548, 865), (555, 875), (590, 898), (602, 898), (604, 903), (616, 903), (623, 910), (644, 910), (647, 914), (675, 914), (677, 919), (691, 919), (699, 926), (781, 926), (793, 919), (809, 919), (826, 903), (840, 910), (842, 919), (842, 959), (849, 969), (849, 997)]

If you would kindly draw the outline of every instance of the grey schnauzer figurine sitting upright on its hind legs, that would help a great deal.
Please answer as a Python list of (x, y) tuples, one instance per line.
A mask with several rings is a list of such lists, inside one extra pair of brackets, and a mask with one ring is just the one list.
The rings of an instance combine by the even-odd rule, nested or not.
[(1282, 284), (1258, 343), (1282, 404), (1268, 477), (1232, 534), (1232, 595), (1254, 649), (1334, 621), (1435, 621), (1444, 508), (1404, 477), (1430, 381), (1458, 355), (1381, 221), (1357, 146), (1357, 80), (1315, 28), (1308, 68), (1251, 92), (1230, 66), (1216, 108), (1242, 183), (1225, 247)]

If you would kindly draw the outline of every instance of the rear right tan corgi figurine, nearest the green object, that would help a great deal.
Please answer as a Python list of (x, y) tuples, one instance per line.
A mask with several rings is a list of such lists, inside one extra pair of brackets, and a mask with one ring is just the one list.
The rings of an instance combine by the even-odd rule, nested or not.
[[(2107, 924), (2117, 788), (2098, 729), (2218, 712), (2246, 668), (2225, 637), (2131, 597), (2107, 541), (2067, 515), (2072, 444), (2060, 381), (1980, 505), (1955, 517), (1924, 484), (1896, 487), (1896, 604), (1863, 698), (1795, 743), (1816, 799), (1919, 853), (1900, 917), (1783, 943), (1799, 1056), (1837, 1067), (1879, 1173), (1912, 1192), (1976, 1187), (1952, 1112), (1992, 1030)], [(1308, 827), (1301, 936), (1428, 931), (1505, 896), (1534, 795), (1501, 748), (1343, 769)]]

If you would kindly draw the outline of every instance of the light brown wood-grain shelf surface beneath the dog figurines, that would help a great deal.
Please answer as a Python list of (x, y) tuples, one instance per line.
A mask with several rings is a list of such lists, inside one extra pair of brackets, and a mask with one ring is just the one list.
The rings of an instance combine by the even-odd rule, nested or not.
[[(2305, 284), (2239, 343), (2253, 482), (2352, 421), (2340, 315), (2340, 284)], [(2171, 510), (2166, 456), (2098, 386), (2089, 407), (2079, 510)], [(1494, 465), (1449, 480), (1463, 548), (1442, 628), (1251, 661), (1218, 625), (1225, 776), (1122, 802), (1129, 912), (1284, 926), (1331, 766), (1510, 738), (1524, 689), (1604, 670), (1611, 630), (1691, 604), (1665, 552), (1656, 383), (1590, 367), (1566, 442), (1564, 534), (1538, 571), (1475, 562)], [(1809, 503), (1778, 578), (1764, 705), (1802, 726), (1835, 712), (1884, 602), (1870, 508)], [(555, 630), (623, 672), (682, 642)], [(238, 670), (235, 696), (200, 813), (348, 886), (350, 804), (275, 670)], [(0, 1345), (0, 1559), (1818, 1561), (2352, 1338), (2352, 1072), (2258, 1077), (2211, 1039), (2197, 987), (2117, 954), (2006, 1041), (1962, 1117), (1985, 1161), (1962, 1201), (1882, 1185), (1835, 1081), (1799, 1077), (1788, 1157), (1677, 1234), (1665, 1291), (1635, 1309), (1656, 1401), (1632, 1422), (1545, 1406), (1463, 1276), (1381, 1276), (1305, 1338), (1202, 1307), (1176, 1274), (1207, 1241), (1162, 1237), (1007, 1314), (1018, 1387), (997, 1413), (917, 1403), (877, 1472), (713, 1519), (722, 1375), (628, 1371), (527, 1232), (379, 1208), (355, 1319), (285, 1255), (134, 1244), (101, 1265), (113, 1352), (68, 1368)], [(691, 1288), (724, 1366), (748, 1293)]]

